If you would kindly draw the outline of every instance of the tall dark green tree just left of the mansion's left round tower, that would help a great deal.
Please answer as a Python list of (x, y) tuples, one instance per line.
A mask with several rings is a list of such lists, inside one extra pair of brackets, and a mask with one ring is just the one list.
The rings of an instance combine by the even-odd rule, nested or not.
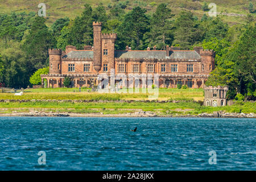
[(45, 22), (43, 17), (37, 16), (23, 44), (27, 60), (31, 62), (27, 68), (31, 73), (48, 64), (48, 48), (55, 47), (56, 44), (56, 40)]

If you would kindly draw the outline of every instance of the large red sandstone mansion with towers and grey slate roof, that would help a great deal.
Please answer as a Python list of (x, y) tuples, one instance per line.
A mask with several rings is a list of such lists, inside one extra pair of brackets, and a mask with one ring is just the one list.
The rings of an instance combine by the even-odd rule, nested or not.
[(98, 75), (110, 76), (110, 70), (114, 69), (115, 74), (125, 75), (150, 74), (154, 77), (158, 73), (160, 88), (176, 88), (177, 84), (203, 88), (214, 69), (212, 50), (195, 47), (193, 51), (181, 51), (169, 46), (164, 51), (156, 47), (135, 51), (128, 46), (126, 50), (115, 50), (116, 39), (117, 34), (101, 33), (101, 22), (93, 22), (93, 47), (77, 50), (67, 46), (65, 51), (49, 49), (49, 74), (41, 75), (42, 85), (46, 78), (48, 87), (62, 87), (64, 78), (70, 77), (73, 87), (88, 87), (92, 82), (100, 84)]

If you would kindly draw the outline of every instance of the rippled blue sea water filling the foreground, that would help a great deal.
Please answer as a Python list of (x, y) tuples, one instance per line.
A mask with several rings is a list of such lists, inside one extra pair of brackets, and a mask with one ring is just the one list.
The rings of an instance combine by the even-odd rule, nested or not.
[(255, 170), (255, 143), (255, 118), (0, 117), (0, 170)]

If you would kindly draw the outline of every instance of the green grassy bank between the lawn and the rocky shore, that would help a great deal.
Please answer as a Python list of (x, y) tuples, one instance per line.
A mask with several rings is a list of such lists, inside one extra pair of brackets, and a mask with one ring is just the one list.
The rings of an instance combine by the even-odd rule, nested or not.
[(60, 113), (134, 113), (137, 111), (152, 111), (159, 115), (166, 114), (200, 114), (212, 113), (213, 111), (225, 111), (229, 113), (256, 113), (256, 104), (251, 102), (236, 102), (232, 106), (210, 107), (201, 106), (195, 102), (180, 103), (157, 103), (157, 102), (1, 102), (0, 113), (29, 112), (29, 111), (52, 111)]

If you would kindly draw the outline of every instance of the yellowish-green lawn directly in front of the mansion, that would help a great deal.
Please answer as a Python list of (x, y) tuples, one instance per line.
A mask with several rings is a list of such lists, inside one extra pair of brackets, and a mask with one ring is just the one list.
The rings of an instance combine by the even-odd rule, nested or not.
[[(74, 92), (75, 90), (75, 92)], [(47, 88), (26, 89), (23, 96), (14, 96), (14, 93), (0, 93), (0, 100), (148, 100), (152, 93), (99, 93), (87, 92), (88, 89), (77, 88)], [(19, 90), (17, 91), (19, 92)], [(203, 101), (203, 89), (159, 89), (158, 100), (195, 100)]]

